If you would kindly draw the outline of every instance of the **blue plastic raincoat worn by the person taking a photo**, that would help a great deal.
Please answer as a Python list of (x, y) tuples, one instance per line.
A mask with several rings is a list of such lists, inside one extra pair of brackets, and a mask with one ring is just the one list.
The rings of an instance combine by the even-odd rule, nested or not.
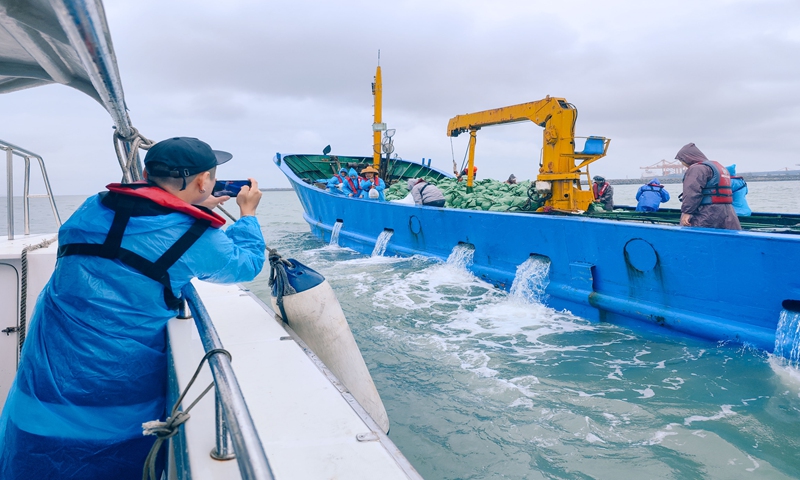
[[(113, 218), (90, 197), (59, 230), (59, 244), (103, 243)], [(193, 223), (177, 212), (132, 217), (122, 248), (153, 261)], [(209, 228), (169, 268), (172, 290), (194, 277), (252, 280), (264, 249), (255, 217)], [(119, 260), (59, 258), (0, 416), (0, 478), (140, 479), (155, 440), (141, 424), (165, 418), (166, 325), (175, 313), (161, 284)]]

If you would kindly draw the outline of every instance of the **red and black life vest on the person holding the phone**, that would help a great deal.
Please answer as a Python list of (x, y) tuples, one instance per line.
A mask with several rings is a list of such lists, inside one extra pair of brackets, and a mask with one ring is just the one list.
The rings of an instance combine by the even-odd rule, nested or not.
[[(183, 299), (172, 291), (168, 270), (209, 227), (219, 228), (225, 225), (225, 219), (207, 208), (190, 205), (147, 182), (112, 183), (106, 188), (109, 191), (100, 194), (100, 202), (114, 211), (114, 220), (111, 222), (105, 241), (61, 244), (58, 247), (58, 258), (87, 255), (119, 260), (145, 277), (160, 283), (164, 287), (164, 303), (167, 308), (180, 309)], [(184, 213), (193, 217), (195, 221), (156, 261), (150, 261), (136, 252), (122, 248), (125, 228), (131, 217), (166, 215), (172, 212)]]

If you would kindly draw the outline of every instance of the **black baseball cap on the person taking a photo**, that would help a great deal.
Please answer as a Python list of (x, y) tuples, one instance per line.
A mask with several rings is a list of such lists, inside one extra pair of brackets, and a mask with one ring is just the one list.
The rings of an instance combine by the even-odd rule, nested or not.
[(173, 137), (162, 140), (147, 151), (144, 165), (153, 177), (186, 178), (211, 170), (233, 158), (228, 152), (212, 150), (201, 140), (192, 137)]

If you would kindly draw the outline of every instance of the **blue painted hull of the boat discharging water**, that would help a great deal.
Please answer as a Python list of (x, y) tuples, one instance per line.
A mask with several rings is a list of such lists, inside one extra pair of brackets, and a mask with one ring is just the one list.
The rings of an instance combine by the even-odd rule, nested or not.
[(339, 245), (363, 253), (385, 229), (394, 231), (387, 255), (446, 259), (472, 244), (471, 270), (506, 289), (518, 265), (545, 256), (548, 305), (589, 320), (771, 352), (783, 302), (800, 299), (800, 236), (379, 203), (329, 194), (276, 163), (317, 237), (329, 240), (341, 221)]

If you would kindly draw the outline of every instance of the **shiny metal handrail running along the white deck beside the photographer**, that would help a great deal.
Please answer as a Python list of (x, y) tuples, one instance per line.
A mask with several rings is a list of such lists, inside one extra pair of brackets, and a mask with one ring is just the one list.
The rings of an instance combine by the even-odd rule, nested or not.
[[(211, 317), (191, 283), (183, 288), (183, 295), (194, 316), (205, 351), (223, 348), (217, 330), (211, 322)], [(218, 422), (217, 449), (219, 450), (220, 445), (227, 441), (229, 432), (242, 478), (245, 480), (274, 480), (267, 454), (258, 437), (258, 431), (256, 431), (253, 418), (250, 416), (247, 403), (244, 401), (230, 360), (225, 355), (213, 355), (208, 359), (208, 363), (216, 384), (218, 405), (222, 407), (224, 413), (223, 416), (216, 416)], [(224, 425), (219, 425), (221, 420), (224, 421)]]

